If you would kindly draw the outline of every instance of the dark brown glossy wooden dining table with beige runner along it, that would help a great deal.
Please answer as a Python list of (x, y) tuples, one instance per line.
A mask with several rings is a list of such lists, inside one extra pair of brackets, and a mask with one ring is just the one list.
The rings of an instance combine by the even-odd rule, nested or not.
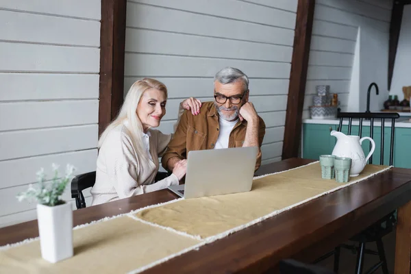
[[(288, 159), (262, 166), (256, 175), (312, 162)], [(74, 225), (175, 199), (168, 190), (151, 192), (74, 212)], [(395, 273), (410, 273), (411, 169), (390, 169), (358, 184), (273, 216), (231, 236), (190, 251), (145, 273), (262, 273), (279, 260), (312, 262), (323, 253), (399, 208)], [(0, 246), (38, 236), (37, 221), (0, 229)]]

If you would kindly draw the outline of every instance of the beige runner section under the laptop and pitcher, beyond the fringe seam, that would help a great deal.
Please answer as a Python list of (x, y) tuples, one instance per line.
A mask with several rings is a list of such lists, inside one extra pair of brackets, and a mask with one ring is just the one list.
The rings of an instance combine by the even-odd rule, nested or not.
[(325, 195), (329, 191), (358, 182), (387, 166), (367, 165), (358, 177), (347, 184), (321, 179), (318, 163), (275, 175), (254, 179), (251, 192), (199, 199), (186, 199), (135, 214), (138, 219), (171, 227), (201, 239), (230, 229), (242, 229), (247, 223), (261, 221), (266, 215), (278, 214), (290, 206)]

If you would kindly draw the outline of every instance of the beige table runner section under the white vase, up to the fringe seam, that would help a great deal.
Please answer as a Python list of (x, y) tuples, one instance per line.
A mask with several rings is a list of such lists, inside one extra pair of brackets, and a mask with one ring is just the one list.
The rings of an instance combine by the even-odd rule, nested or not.
[(199, 241), (120, 216), (75, 229), (74, 256), (56, 264), (42, 260), (34, 240), (0, 253), (0, 273), (127, 273)]

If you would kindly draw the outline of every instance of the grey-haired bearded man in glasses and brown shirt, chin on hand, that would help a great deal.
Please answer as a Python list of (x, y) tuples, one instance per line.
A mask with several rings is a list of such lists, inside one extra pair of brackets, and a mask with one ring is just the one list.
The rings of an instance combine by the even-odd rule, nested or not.
[[(164, 169), (186, 159), (188, 151), (259, 147), (256, 170), (261, 164), (265, 124), (249, 102), (249, 79), (239, 69), (227, 67), (214, 77), (214, 102), (182, 114), (169, 149), (162, 157)], [(197, 115), (196, 115), (197, 114)]]

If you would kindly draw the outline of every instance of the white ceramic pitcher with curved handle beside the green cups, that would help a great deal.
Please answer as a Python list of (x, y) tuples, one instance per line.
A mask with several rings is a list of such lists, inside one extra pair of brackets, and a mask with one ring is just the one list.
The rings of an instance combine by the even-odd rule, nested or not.
[[(350, 176), (356, 177), (360, 175), (361, 171), (364, 169), (366, 162), (374, 153), (374, 140), (370, 137), (362, 137), (360, 139), (360, 136), (345, 135), (343, 134), (343, 132), (336, 132), (335, 130), (331, 132), (331, 135), (337, 138), (337, 143), (332, 151), (332, 155), (336, 155), (337, 157), (351, 158), (352, 162)], [(371, 142), (371, 151), (369, 155), (366, 155), (366, 157), (361, 147), (363, 140), (370, 140)]]

